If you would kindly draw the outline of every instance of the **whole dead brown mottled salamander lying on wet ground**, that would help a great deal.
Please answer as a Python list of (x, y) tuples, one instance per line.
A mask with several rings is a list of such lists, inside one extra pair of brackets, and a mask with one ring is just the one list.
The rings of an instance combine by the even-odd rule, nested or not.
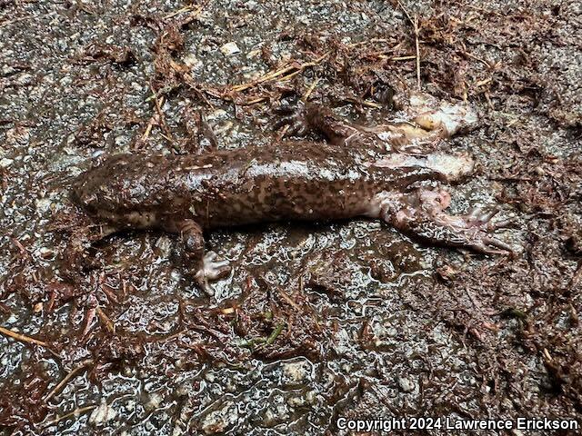
[(367, 216), (436, 243), (483, 253), (509, 250), (484, 228), (492, 213), (447, 215), (448, 194), (419, 187), (472, 171), (466, 155), (419, 151), (422, 144), (474, 121), (459, 107), (452, 110), (453, 118), (432, 108), (416, 117), (424, 116), (424, 124), (375, 129), (347, 124), (315, 104), (282, 108), (279, 112), (288, 116), (281, 124), (288, 124), (290, 133), (315, 128), (329, 144), (295, 141), (199, 155), (115, 155), (81, 174), (72, 198), (112, 231), (180, 233), (194, 276), (206, 289), (207, 280), (228, 271), (226, 263), (213, 262), (214, 253), (204, 256), (203, 231), (214, 227)]

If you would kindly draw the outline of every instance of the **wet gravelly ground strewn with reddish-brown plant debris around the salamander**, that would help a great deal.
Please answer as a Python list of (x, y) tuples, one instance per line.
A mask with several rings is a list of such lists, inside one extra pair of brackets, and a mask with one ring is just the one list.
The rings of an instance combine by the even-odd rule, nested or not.
[[(582, 423), (581, 15), (560, 1), (0, 2), (3, 434)], [(441, 144), (478, 163), (453, 209), (513, 217), (514, 258), (353, 220), (209, 234), (234, 265), (214, 298), (171, 235), (115, 235), (72, 262), (95, 229), (68, 186), (100, 156), (196, 152), (198, 109), (220, 147), (267, 144), (272, 105), (306, 94), (374, 124), (418, 84), (481, 114)]]

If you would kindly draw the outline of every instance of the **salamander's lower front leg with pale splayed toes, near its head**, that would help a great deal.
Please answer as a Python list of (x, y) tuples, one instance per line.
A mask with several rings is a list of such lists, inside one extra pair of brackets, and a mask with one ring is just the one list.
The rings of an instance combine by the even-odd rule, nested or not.
[(209, 282), (216, 281), (230, 272), (228, 261), (217, 260), (215, 252), (205, 254), (202, 228), (195, 221), (185, 220), (178, 225), (178, 231), (184, 243), (186, 261), (192, 265), (190, 275), (206, 293), (213, 295), (214, 290)]

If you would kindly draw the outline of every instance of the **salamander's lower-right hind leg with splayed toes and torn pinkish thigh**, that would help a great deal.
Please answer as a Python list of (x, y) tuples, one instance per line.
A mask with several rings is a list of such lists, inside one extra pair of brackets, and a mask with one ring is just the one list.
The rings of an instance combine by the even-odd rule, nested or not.
[(466, 247), (477, 253), (512, 254), (513, 248), (491, 234), (496, 212), (474, 210), (467, 215), (445, 213), (450, 195), (443, 190), (419, 189), (414, 193), (381, 193), (380, 217), (398, 230), (430, 243)]

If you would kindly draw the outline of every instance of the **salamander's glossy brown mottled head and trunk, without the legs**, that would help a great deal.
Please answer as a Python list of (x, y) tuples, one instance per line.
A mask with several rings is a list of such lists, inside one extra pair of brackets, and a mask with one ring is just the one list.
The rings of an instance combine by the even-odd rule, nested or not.
[[(366, 214), (377, 193), (446, 180), (423, 167), (374, 166), (364, 147), (284, 142), (202, 155), (120, 154), (84, 174), (75, 200), (118, 228), (195, 220), (202, 228)], [(137, 213), (135, 213), (137, 212)]]

